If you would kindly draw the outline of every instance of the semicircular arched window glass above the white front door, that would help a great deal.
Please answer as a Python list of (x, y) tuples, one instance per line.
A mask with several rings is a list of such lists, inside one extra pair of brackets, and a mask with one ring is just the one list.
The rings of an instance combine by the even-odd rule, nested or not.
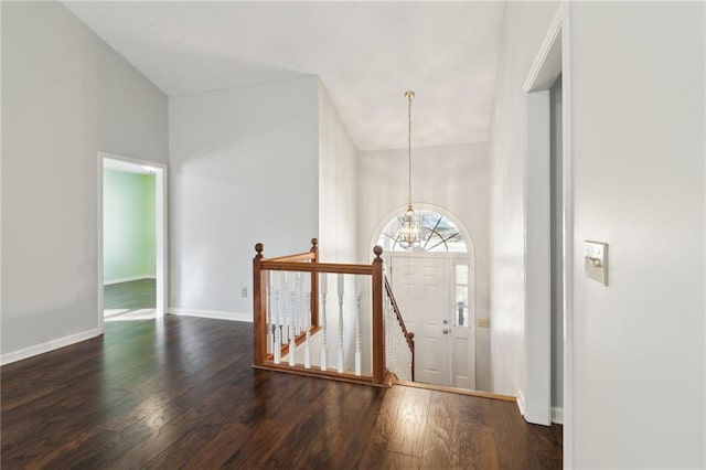
[[(418, 247), (414, 250), (431, 252), (431, 253), (468, 253), (468, 246), (461, 231), (443, 215), (421, 210), (419, 213), (420, 238)], [(377, 245), (382, 246), (385, 252), (409, 252), (413, 247), (406, 245), (402, 241), (402, 218), (405, 214), (400, 213), (393, 217), (385, 225), (383, 232), (377, 238)]]

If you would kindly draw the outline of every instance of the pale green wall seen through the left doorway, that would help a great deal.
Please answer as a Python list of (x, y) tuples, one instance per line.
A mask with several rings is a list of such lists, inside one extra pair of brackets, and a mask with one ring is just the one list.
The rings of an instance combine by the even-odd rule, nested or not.
[(104, 170), (103, 279), (156, 275), (154, 175)]

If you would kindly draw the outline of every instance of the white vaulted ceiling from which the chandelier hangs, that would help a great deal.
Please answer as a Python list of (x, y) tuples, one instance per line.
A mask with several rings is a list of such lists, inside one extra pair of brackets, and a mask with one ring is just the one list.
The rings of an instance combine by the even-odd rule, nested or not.
[(502, 2), (66, 2), (170, 96), (319, 75), (360, 150), (488, 140)]

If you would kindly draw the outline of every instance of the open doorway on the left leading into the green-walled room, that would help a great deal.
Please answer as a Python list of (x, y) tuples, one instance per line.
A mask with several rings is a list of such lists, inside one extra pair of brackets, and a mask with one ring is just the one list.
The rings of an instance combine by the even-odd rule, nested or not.
[(98, 316), (154, 320), (165, 309), (165, 168), (99, 152)]

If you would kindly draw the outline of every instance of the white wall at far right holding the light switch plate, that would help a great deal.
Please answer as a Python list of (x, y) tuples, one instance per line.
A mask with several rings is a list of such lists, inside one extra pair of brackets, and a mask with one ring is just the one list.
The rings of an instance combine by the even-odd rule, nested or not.
[(576, 468), (706, 467), (704, 10), (570, 4)]

